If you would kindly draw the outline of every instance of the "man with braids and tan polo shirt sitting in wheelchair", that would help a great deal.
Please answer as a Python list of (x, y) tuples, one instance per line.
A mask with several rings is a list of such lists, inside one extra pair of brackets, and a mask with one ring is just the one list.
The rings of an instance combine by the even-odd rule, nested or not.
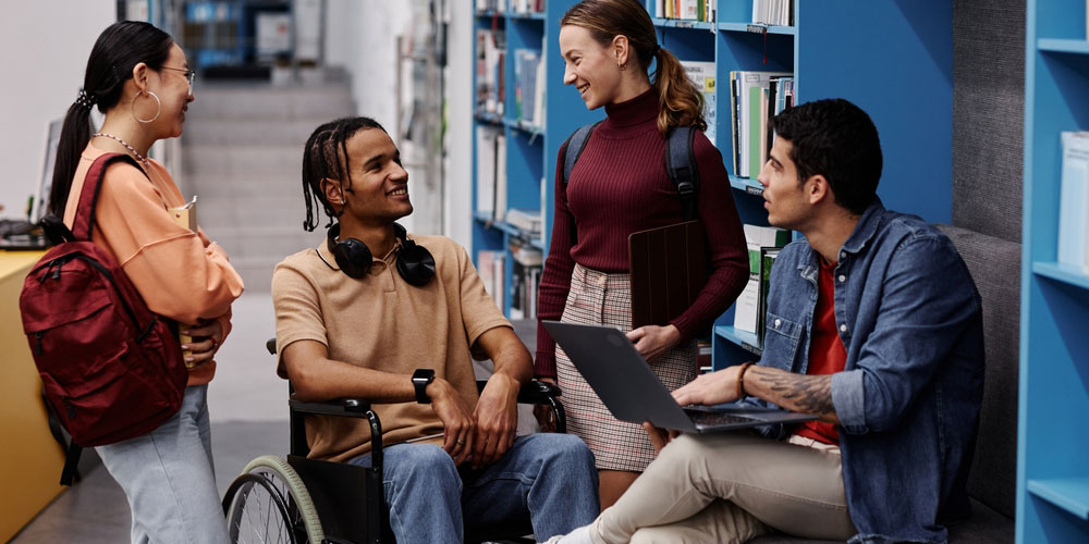
[[(592, 455), (573, 435), (515, 437), (529, 353), (464, 248), (394, 223), (413, 211), (407, 182), (374, 120), (333, 121), (310, 136), (305, 226), (317, 226), (320, 202), (330, 231), (272, 276), (280, 375), (302, 400), (375, 403), (400, 543), (461, 543), (463, 523), (531, 521), (542, 540), (589, 523), (598, 512)], [(479, 395), (470, 349), (494, 361)], [(364, 420), (308, 417), (306, 435), (311, 458), (370, 462)]]

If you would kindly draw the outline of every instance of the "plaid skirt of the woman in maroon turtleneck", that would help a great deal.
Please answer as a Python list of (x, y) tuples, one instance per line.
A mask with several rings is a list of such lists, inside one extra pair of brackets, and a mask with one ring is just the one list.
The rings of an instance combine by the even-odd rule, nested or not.
[[(632, 330), (632, 292), (628, 274), (607, 274), (575, 264), (563, 310), (567, 323), (614, 325)], [(673, 391), (696, 378), (696, 342), (668, 351), (650, 367)], [(560, 346), (555, 349), (556, 381), (563, 390), (567, 432), (586, 442), (599, 470), (643, 472), (654, 459), (647, 432), (635, 423), (617, 421), (586, 383)]]

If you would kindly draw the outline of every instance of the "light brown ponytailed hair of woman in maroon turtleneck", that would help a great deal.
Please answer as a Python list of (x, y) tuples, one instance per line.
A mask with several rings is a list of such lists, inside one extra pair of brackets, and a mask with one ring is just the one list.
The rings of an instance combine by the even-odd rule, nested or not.
[(663, 137), (674, 126), (692, 125), (700, 131), (707, 129), (703, 95), (685, 75), (681, 61), (659, 47), (654, 24), (641, 3), (636, 0), (583, 0), (563, 14), (560, 26), (563, 25), (586, 28), (602, 47), (612, 44), (616, 36), (627, 37), (644, 73), (650, 67), (652, 59), (658, 60), (651, 85), (661, 104), (658, 132)]

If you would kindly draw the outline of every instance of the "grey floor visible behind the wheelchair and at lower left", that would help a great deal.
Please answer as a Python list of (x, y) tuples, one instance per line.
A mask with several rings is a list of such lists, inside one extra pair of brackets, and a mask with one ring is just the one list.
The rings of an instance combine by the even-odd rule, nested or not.
[[(286, 454), (289, 436), (287, 385), (276, 375), (276, 359), (265, 350), (265, 341), (274, 331), (270, 295), (244, 294), (233, 305), (232, 323), (233, 331), (217, 356), (216, 380), (208, 390), (212, 455), (220, 496), (254, 457)], [(514, 325), (531, 349), (536, 324), (521, 321)], [(484, 366), (477, 371), (478, 375), (487, 373)], [(531, 420), (531, 415), (523, 408), (519, 432), (531, 430), (527, 420)], [(11, 542), (127, 542), (129, 523), (124, 493), (98, 463)]]

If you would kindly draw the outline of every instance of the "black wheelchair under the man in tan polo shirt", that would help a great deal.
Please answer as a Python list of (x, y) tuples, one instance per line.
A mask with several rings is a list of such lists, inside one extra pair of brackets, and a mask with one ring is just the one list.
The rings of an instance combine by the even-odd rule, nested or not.
[[(266, 347), (276, 354), (276, 338)], [(482, 391), (487, 381), (478, 381)], [(556, 432), (566, 432), (561, 392), (533, 381), (522, 387), (519, 404), (547, 406)], [(358, 398), (303, 403), (287, 400), (291, 445), (286, 459), (266, 455), (250, 461), (223, 496), (231, 541), (235, 543), (389, 544), (395, 542), (382, 493), (382, 424), (370, 404)], [(307, 415), (366, 419), (370, 425), (371, 467), (308, 459), (304, 426)], [(465, 542), (526, 542), (526, 522), (466, 531)], [(531, 542), (531, 541), (530, 541)]]

